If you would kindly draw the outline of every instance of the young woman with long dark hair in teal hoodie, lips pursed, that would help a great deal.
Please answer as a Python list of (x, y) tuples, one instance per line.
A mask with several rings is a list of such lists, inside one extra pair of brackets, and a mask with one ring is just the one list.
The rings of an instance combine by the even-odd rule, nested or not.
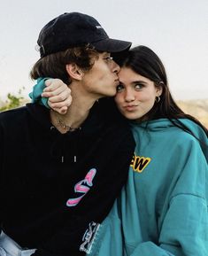
[(135, 159), (89, 255), (208, 255), (207, 129), (175, 104), (149, 48), (129, 51), (119, 81), (115, 101), (130, 120)]

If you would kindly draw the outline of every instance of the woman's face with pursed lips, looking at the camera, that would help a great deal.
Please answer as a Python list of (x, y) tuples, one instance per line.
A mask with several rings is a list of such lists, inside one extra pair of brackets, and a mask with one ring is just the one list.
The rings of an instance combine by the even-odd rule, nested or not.
[(162, 94), (162, 89), (129, 67), (120, 69), (119, 81), (115, 97), (119, 112), (129, 120), (147, 120), (146, 114), (155, 104), (156, 97)]

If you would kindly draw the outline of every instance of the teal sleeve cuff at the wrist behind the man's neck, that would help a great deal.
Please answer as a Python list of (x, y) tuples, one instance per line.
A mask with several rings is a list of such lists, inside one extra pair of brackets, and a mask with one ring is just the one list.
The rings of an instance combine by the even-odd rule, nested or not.
[(47, 79), (49, 79), (49, 77), (38, 78), (37, 83), (33, 87), (33, 91), (29, 93), (29, 97), (32, 99), (32, 103), (37, 103), (50, 108), (48, 105), (48, 98), (42, 97), (42, 90), (45, 88), (45, 81)]

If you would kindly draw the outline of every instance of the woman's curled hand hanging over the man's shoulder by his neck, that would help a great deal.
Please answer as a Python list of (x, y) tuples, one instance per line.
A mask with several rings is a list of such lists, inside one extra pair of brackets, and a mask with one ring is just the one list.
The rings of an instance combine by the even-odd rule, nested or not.
[(42, 97), (49, 98), (48, 104), (51, 109), (64, 114), (72, 104), (71, 89), (60, 79), (49, 79), (45, 81), (45, 85)]

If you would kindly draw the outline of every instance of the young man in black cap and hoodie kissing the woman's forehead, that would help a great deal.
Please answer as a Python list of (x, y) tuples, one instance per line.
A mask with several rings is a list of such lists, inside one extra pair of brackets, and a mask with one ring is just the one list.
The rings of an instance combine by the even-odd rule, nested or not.
[(110, 53), (131, 43), (110, 39), (96, 19), (71, 12), (43, 27), (38, 44), (32, 78), (65, 81), (73, 102), (65, 115), (36, 104), (0, 114), (0, 247), (11, 256), (84, 255), (127, 179), (135, 148), (111, 99), (101, 99), (119, 84)]

